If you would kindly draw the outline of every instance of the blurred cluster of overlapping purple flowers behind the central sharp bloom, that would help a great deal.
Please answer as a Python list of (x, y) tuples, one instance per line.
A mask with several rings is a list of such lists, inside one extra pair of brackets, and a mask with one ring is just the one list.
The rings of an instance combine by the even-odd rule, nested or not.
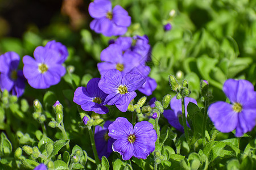
[(102, 62), (98, 63), (98, 70), (101, 76), (110, 69), (117, 69), (123, 75), (129, 71), (137, 71), (146, 79), (138, 90), (149, 96), (157, 86), (156, 81), (148, 76), (151, 69), (146, 62), (150, 61), (150, 50), (147, 36), (119, 37), (102, 50)]

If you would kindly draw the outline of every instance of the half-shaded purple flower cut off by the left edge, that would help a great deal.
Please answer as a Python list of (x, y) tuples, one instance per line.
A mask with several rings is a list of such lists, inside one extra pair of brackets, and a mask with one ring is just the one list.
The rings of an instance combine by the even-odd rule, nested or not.
[(7, 52), (0, 56), (0, 88), (1, 91), (11, 91), (12, 95), (21, 96), (25, 88), (25, 78), (19, 66), (19, 55)]

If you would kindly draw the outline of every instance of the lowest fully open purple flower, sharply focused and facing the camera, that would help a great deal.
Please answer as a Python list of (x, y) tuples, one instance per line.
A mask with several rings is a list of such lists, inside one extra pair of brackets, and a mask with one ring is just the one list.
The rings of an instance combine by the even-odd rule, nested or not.
[(109, 125), (109, 137), (117, 139), (112, 148), (122, 155), (123, 160), (129, 160), (132, 156), (147, 159), (147, 156), (155, 150), (155, 142), (158, 138), (150, 122), (138, 122), (133, 128), (124, 117), (118, 117)]

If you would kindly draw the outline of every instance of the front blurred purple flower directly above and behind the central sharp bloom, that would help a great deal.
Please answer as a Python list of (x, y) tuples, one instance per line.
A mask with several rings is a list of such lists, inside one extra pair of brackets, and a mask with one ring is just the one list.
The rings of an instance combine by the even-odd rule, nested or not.
[(138, 65), (138, 54), (123, 53), (122, 46), (111, 44), (108, 48), (102, 50), (101, 61), (98, 63), (98, 71), (101, 76), (110, 69), (117, 69), (124, 75)]

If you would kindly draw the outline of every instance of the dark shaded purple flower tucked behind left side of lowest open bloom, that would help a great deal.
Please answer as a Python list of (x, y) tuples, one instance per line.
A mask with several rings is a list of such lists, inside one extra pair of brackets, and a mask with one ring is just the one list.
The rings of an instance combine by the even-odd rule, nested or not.
[(108, 128), (110, 124), (112, 124), (112, 121), (106, 121), (103, 128), (101, 126), (95, 126), (94, 140), (98, 158), (100, 159), (102, 156), (106, 156), (106, 158), (108, 158), (113, 152), (112, 145), (115, 139), (109, 137)]

